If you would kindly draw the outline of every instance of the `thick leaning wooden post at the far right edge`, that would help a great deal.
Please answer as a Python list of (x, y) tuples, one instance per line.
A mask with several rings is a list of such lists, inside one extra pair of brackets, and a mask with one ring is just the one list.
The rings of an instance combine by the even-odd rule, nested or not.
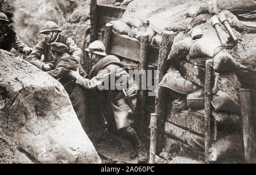
[(256, 141), (255, 141), (255, 116), (251, 106), (251, 93), (249, 89), (240, 89), (240, 102), (243, 121), (243, 143), (245, 144), (246, 164), (255, 163)]

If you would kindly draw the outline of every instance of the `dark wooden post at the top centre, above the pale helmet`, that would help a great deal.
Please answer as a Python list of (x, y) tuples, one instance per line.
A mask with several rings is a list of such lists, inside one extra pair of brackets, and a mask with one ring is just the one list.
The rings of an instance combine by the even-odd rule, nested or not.
[(90, 43), (98, 39), (98, 16), (97, 16), (97, 0), (90, 1), (90, 26), (92, 27), (90, 33)]

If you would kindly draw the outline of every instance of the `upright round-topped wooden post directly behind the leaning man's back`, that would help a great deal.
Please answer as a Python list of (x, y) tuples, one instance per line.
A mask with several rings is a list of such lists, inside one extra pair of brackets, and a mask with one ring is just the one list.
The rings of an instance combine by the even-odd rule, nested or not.
[(140, 123), (141, 131), (144, 133), (146, 129), (146, 97), (147, 97), (147, 66), (148, 66), (148, 48), (149, 48), (149, 36), (141, 36), (141, 56), (140, 56), (140, 65), (139, 70), (139, 114), (140, 114)]

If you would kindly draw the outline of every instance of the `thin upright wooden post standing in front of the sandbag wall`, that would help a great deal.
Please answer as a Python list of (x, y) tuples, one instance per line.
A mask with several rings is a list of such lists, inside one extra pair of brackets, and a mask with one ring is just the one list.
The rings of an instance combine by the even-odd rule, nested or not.
[(205, 163), (209, 164), (209, 149), (211, 147), (210, 138), (210, 116), (212, 115), (212, 78), (213, 78), (213, 62), (206, 61), (205, 69)]

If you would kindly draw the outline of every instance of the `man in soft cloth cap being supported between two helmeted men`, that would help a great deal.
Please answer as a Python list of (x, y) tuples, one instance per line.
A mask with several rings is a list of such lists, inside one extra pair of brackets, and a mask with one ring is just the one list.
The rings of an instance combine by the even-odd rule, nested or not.
[(82, 69), (79, 61), (77, 61), (74, 56), (68, 55), (68, 47), (62, 43), (51, 44), (51, 57), (53, 59), (52, 69), (47, 73), (64, 86), (71, 99), (77, 117), (84, 130), (86, 130), (85, 98), (84, 95), (82, 95), (84, 91), (72, 81), (72, 77), (69, 76), (69, 71), (78, 69), (79, 73), (84, 78), (86, 77), (86, 72)]

